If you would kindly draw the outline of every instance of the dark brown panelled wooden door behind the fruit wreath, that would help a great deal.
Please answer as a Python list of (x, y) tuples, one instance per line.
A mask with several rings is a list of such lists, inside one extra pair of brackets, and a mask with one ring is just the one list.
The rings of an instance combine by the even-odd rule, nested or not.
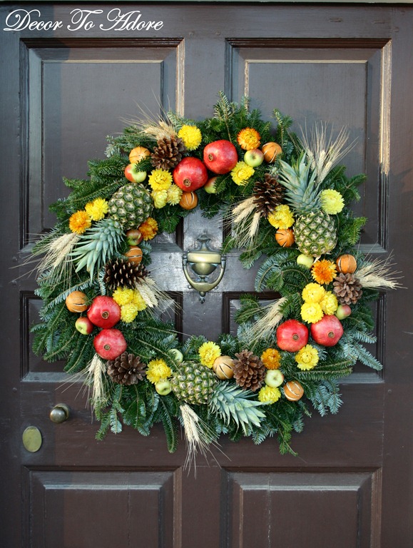
[[(30, 12), (31, 26), (16, 10)], [(115, 24), (134, 10), (158, 26)], [(267, 118), (280, 108), (298, 123), (350, 128), (357, 145), (349, 172), (368, 176), (358, 205), (369, 217), (362, 245), (392, 252), (409, 288), (412, 9), (23, 2), (0, 13), (1, 546), (411, 547), (408, 289), (377, 306), (373, 350), (384, 371), (360, 367), (347, 379), (340, 413), (314, 416), (293, 439), (298, 457), (281, 456), (272, 440), (223, 438), (226, 456), (198, 459), (194, 478), (183, 472), (185, 444), (170, 455), (160, 428), (148, 438), (126, 428), (95, 440), (81, 385), (31, 352), (39, 300), (24, 260), (34, 235), (55, 222), (48, 205), (65, 195), (62, 177), (83, 178), (86, 161), (103, 157), (105, 136), (138, 116), (136, 103), (204, 118), (223, 90), (235, 101), (250, 96)], [(34, 21), (52, 21), (54, 30)], [(158, 238), (153, 272), (182, 295), (183, 332), (212, 338), (234, 328), (239, 294), (253, 285), (231, 255), (223, 282), (200, 305), (181, 255), (205, 231), (219, 245), (220, 228), (198, 214), (176, 238)], [(71, 410), (61, 425), (49, 420), (58, 402)], [(37, 452), (22, 443), (29, 426), (41, 432)]]

